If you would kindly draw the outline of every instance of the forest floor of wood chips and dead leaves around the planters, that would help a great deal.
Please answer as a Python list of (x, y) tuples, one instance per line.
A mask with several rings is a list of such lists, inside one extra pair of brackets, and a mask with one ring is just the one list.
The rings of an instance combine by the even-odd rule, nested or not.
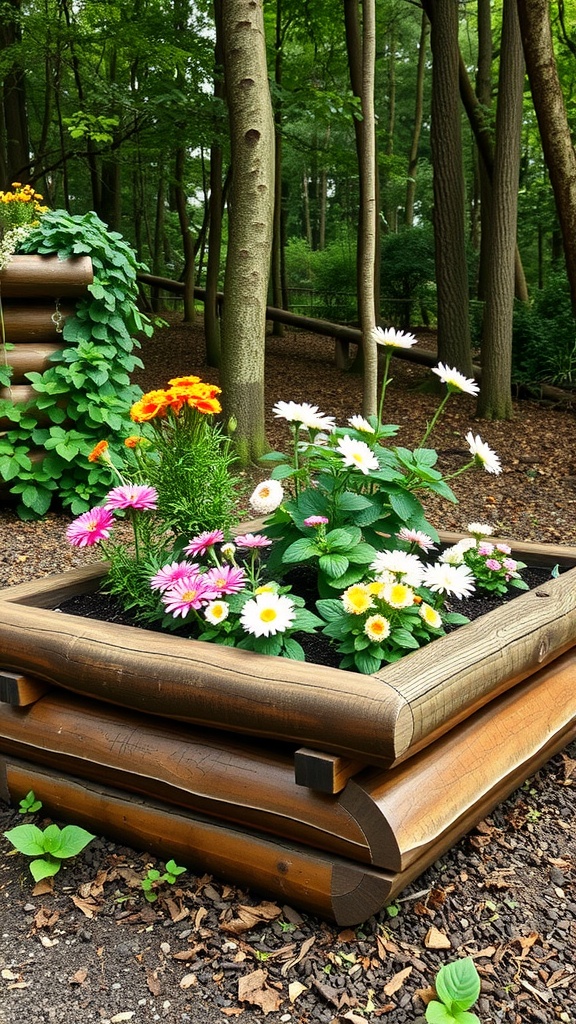
[[(422, 335), (423, 347), (434, 336)], [(202, 331), (180, 325), (142, 346), (145, 390), (207, 370)], [(418, 443), (438, 398), (429, 372), (393, 360), (385, 419), (399, 442)], [(266, 342), (266, 411), (310, 401), (337, 422), (361, 411), (361, 381), (335, 368), (333, 343), (287, 333)], [(489, 522), (500, 537), (576, 546), (574, 409), (516, 404), (510, 423), (475, 422), (474, 399), (455, 396), (433, 443), (445, 471), (480, 433), (502, 473), (464, 474), (459, 504), (431, 502), (438, 528)], [(287, 432), (270, 416), (269, 439)], [(263, 474), (262, 474), (263, 475)], [(253, 482), (253, 475), (247, 487)], [(23, 523), (0, 509), (4, 586), (97, 558), (71, 549), (70, 518)], [(408, 1024), (423, 1013), (442, 964), (471, 955), (482, 978), (482, 1024), (574, 1021), (576, 951), (576, 743), (409, 886), (392, 911), (338, 929), (276, 906), (230, 880), (187, 872), (156, 903), (140, 881), (154, 857), (98, 837), (35, 892), (25, 858), (0, 835), (0, 1024), (148, 1024), (221, 1021), (282, 1024), (365, 1020)], [(0, 834), (22, 823), (0, 803)], [(102, 829), (104, 830), (104, 829)], [(159, 865), (162, 866), (162, 865)]]

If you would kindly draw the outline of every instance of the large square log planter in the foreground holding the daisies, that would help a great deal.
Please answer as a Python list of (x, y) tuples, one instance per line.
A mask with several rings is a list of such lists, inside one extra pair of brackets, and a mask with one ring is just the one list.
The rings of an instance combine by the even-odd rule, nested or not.
[(340, 925), (576, 736), (575, 568), (374, 676), (53, 610), (101, 572), (0, 592), (5, 799)]

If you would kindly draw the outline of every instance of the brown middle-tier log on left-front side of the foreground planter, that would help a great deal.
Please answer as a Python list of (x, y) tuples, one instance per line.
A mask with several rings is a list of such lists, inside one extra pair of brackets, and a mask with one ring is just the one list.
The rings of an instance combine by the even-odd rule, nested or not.
[(0, 705), (0, 750), (92, 782), (370, 862), (337, 801), (294, 782), (293, 752), (52, 690), (23, 715)]

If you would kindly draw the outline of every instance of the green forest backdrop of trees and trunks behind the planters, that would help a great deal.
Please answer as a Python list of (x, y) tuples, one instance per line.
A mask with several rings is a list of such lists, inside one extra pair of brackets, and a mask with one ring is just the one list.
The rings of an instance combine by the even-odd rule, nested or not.
[(374, 324), (437, 327), (440, 359), (482, 368), (488, 419), (517, 383), (573, 385), (574, 0), (2, 12), (0, 186), (94, 210), (183, 283), (186, 318), (206, 289), (246, 460), (265, 447), (266, 302), (360, 324), (365, 375)]

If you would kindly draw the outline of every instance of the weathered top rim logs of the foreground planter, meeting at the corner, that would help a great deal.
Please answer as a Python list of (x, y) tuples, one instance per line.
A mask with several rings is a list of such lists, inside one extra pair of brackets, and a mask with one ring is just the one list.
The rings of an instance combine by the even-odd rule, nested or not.
[[(94, 584), (93, 567), (88, 577)], [(516, 598), (513, 615), (502, 606), (361, 676), (12, 603), (49, 605), (47, 582), (36, 596), (33, 585), (0, 594), (0, 666), (148, 714), (390, 767), (573, 646), (575, 583), (572, 569)]]

